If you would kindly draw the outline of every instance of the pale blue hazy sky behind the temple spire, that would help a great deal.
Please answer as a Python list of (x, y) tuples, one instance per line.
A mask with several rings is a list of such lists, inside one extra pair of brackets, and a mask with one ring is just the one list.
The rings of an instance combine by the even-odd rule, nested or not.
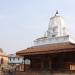
[(56, 10), (75, 36), (75, 0), (0, 0), (0, 48), (12, 54), (33, 46)]

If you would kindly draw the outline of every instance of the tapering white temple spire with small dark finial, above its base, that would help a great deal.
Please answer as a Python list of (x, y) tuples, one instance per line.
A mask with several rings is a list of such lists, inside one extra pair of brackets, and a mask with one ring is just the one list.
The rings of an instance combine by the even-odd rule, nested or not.
[(50, 18), (49, 27), (47, 31), (47, 37), (58, 37), (68, 35), (66, 23), (56, 11), (55, 15)]

